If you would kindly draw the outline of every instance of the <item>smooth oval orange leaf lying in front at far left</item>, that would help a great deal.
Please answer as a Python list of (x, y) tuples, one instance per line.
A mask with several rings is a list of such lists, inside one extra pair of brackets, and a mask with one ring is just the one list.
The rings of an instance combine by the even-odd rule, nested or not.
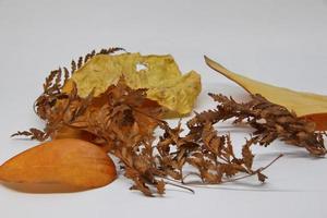
[(69, 192), (99, 187), (117, 177), (98, 146), (73, 138), (29, 148), (0, 167), (0, 181), (24, 192)]

